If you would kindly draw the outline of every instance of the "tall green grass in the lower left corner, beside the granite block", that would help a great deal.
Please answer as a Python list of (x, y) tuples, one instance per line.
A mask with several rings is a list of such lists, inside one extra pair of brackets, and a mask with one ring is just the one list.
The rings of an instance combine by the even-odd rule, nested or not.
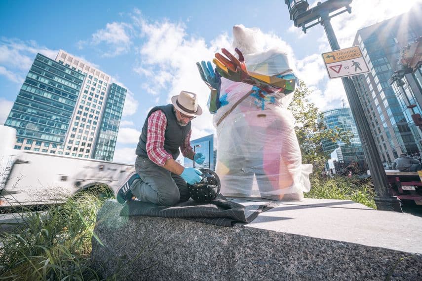
[(0, 280), (98, 280), (89, 266), (95, 219), (105, 201), (97, 194), (81, 192), (29, 213), (23, 225), (1, 233)]

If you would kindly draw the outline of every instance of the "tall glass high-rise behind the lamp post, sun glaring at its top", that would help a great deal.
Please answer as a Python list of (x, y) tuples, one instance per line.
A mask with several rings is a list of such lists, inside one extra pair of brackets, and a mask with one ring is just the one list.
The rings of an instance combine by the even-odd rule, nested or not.
[(413, 103), (421, 111), (418, 81), (406, 75), (404, 87), (388, 83), (400, 49), (422, 35), (421, 16), (422, 5), (415, 5), (408, 13), (360, 29), (353, 43), (360, 46), (371, 70), (354, 76), (353, 81), (385, 168), (391, 168), (400, 153), (422, 151), (421, 132), (407, 108)]

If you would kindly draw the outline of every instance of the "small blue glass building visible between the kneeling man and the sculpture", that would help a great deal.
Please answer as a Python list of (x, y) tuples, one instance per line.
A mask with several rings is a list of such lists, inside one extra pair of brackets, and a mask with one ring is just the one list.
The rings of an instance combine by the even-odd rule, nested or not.
[(196, 153), (201, 152), (205, 155), (205, 161), (202, 164), (193, 163), (191, 159), (185, 157), (184, 166), (185, 167), (195, 167), (199, 168), (208, 168), (215, 170), (215, 160), (214, 160), (214, 135), (208, 135), (196, 140), (191, 140), (191, 146)]

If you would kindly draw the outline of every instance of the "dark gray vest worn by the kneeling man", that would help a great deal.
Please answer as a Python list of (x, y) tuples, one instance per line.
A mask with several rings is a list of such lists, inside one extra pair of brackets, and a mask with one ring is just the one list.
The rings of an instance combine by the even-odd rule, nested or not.
[(164, 150), (173, 156), (173, 159), (179, 156), (179, 147), (185, 141), (186, 136), (191, 131), (191, 122), (186, 126), (180, 126), (177, 124), (176, 113), (174, 112), (173, 105), (162, 105), (155, 106), (148, 113), (147, 119), (145, 120), (144, 127), (142, 127), (141, 136), (139, 137), (138, 146), (136, 147), (136, 155), (147, 157), (147, 134), (148, 134), (148, 118), (153, 114), (154, 111), (161, 110), (164, 112), (167, 118), (167, 127), (164, 133)]

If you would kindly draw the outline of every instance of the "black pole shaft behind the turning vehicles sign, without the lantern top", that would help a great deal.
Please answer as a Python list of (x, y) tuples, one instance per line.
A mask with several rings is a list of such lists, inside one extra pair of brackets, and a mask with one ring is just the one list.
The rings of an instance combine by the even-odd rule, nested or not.
[[(337, 41), (337, 37), (334, 33), (333, 27), (331, 26), (330, 16), (328, 13), (322, 15), (321, 24), (324, 26), (331, 49), (333, 51), (339, 50), (339, 42)], [(368, 163), (369, 171), (371, 172), (371, 177), (376, 193), (374, 200), (377, 208), (378, 210), (384, 211), (402, 212), (400, 200), (396, 196), (393, 196), (389, 188), (387, 176), (385, 175), (385, 170), (381, 162), (380, 154), (378, 153), (374, 137), (372, 136), (371, 129), (369, 128), (353, 81), (350, 77), (343, 77), (342, 81), (345, 87), (345, 92), (349, 101), (351, 112), (353, 114), (354, 120), (356, 121), (357, 131), (362, 142), (363, 152)]]

